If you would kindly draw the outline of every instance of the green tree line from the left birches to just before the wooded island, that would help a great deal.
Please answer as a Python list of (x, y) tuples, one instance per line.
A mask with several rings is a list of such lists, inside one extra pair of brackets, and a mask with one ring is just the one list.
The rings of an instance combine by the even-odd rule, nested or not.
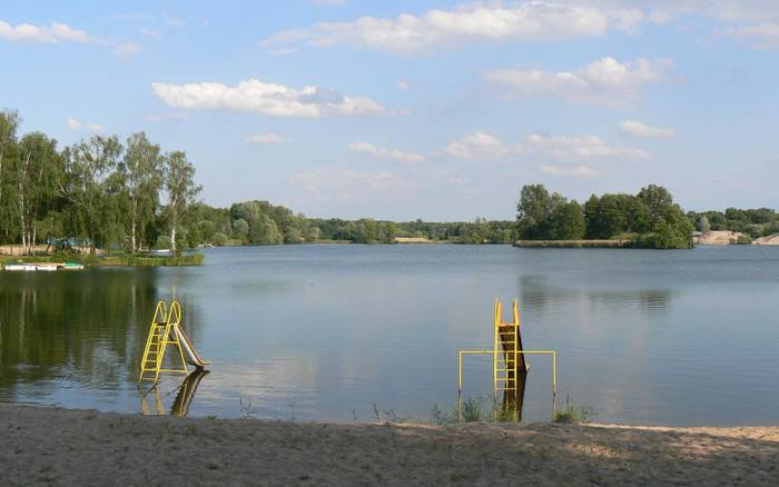
[(394, 222), (307, 218), (267, 201), (215, 208), (197, 200), (195, 167), (146, 133), (97, 135), (68, 147), (36, 131), (20, 135), (16, 111), (0, 111), (0, 244), (65, 245), (138, 254), (200, 245), (322, 241), (509, 244), (512, 221)]

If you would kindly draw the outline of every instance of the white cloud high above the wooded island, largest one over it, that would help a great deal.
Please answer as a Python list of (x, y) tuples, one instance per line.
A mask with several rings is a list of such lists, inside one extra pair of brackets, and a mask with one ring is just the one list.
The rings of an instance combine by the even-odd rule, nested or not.
[(588, 103), (619, 103), (635, 96), (644, 85), (664, 79), (669, 60), (637, 59), (619, 62), (601, 58), (576, 71), (549, 72), (500, 69), (483, 74), (504, 96), (550, 96)]

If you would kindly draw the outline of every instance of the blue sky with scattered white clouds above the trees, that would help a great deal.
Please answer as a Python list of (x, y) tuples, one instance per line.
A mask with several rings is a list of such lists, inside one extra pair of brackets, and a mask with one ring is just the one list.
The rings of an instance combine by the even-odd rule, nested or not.
[(0, 107), (61, 145), (144, 130), (217, 206), (513, 218), (542, 182), (777, 208), (778, 54), (766, 0), (6, 0)]

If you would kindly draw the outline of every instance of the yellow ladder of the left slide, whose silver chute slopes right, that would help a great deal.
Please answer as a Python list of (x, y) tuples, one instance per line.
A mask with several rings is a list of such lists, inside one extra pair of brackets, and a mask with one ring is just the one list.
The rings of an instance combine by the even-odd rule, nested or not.
[[(155, 309), (155, 316), (149, 326), (149, 335), (146, 339), (144, 348), (144, 357), (140, 360), (140, 376), (138, 381), (152, 380), (155, 384), (159, 380), (160, 372), (187, 374), (187, 362), (184, 359), (184, 350), (179, 341), (179, 335), (174, 332), (175, 327), (181, 324), (181, 305), (178, 301), (172, 301), (170, 308), (165, 301), (159, 301)], [(180, 368), (162, 368), (165, 360), (165, 351), (169, 346), (178, 349), (178, 356), (181, 359)], [(154, 377), (151, 376), (154, 374)]]

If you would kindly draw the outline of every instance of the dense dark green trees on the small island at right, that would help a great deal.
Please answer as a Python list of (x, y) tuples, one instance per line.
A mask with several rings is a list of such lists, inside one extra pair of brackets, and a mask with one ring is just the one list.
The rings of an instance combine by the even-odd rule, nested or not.
[(692, 247), (692, 223), (660, 186), (647, 186), (635, 196), (592, 195), (580, 205), (543, 185), (526, 185), (516, 211), (525, 240), (622, 239), (638, 247)]

